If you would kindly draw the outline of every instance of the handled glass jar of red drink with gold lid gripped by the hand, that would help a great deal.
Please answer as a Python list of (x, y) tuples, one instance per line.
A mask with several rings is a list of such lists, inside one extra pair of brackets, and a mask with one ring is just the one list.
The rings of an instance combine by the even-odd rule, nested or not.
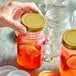
[(17, 62), (24, 68), (37, 69), (46, 52), (45, 19), (39, 14), (28, 13), (22, 16), (22, 23), (28, 32), (17, 37)]

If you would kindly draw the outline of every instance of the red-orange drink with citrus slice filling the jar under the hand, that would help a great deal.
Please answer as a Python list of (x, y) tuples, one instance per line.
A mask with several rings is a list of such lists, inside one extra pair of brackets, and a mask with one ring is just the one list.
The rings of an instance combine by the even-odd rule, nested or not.
[(45, 33), (41, 37), (38, 37), (40, 36), (38, 33), (32, 34), (33, 36), (35, 38), (28, 38), (26, 35), (25, 37), (19, 35), (17, 38), (17, 62), (28, 69), (39, 68), (42, 63), (41, 53), (45, 52), (42, 50), (45, 43)]

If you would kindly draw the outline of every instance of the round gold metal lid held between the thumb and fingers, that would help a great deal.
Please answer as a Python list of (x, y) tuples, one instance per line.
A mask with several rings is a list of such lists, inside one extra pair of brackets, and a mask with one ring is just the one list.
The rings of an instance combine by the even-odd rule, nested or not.
[(22, 16), (22, 23), (30, 32), (42, 31), (46, 25), (45, 18), (37, 13), (27, 13)]

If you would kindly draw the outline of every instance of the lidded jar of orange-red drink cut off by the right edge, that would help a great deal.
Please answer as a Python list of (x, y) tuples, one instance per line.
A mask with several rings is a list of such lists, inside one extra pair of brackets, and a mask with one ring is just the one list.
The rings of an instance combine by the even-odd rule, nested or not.
[(60, 76), (76, 76), (76, 30), (63, 35), (59, 70)]

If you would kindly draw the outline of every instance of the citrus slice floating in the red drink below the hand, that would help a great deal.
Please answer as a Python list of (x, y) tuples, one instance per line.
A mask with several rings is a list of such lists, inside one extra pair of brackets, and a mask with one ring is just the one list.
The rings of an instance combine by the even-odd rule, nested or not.
[(20, 51), (25, 51), (26, 54), (32, 56), (32, 57), (37, 57), (40, 53), (40, 51), (31, 44), (28, 43), (22, 43), (19, 45), (19, 50)]

